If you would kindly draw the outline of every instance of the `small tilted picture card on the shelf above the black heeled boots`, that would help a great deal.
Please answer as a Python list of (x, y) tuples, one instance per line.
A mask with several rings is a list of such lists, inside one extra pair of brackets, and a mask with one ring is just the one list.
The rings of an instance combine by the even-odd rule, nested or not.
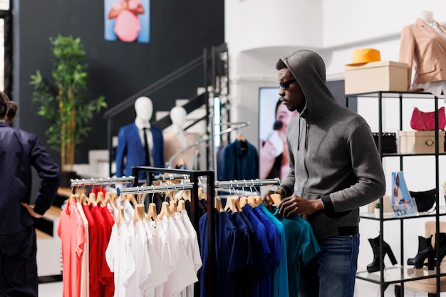
[(410, 197), (402, 171), (392, 172), (392, 196), (390, 198), (395, 217), (415, 216), (418, 214), (415, 201)]

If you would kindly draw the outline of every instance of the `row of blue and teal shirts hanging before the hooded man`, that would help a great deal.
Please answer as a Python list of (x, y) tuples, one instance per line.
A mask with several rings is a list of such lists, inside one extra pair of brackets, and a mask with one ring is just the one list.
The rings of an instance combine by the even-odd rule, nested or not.
[[(207, 214), (199, 220), (203, 267), (201, 296), (208, 296)], [(215, 213), (217, 296), (297, 296), (299, 266), (320, 251), (311, 226), (301, 217), (281, 217), (263, 204), (240, 212)], [(229, 246), (228, 246), (229, 244)]]

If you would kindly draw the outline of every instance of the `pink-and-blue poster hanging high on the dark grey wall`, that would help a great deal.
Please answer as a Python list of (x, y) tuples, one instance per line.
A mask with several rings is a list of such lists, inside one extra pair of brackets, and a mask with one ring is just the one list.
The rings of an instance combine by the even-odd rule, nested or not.
[(105, 0), (105, 9), (106, 40), (148, 43), (148, 0)]

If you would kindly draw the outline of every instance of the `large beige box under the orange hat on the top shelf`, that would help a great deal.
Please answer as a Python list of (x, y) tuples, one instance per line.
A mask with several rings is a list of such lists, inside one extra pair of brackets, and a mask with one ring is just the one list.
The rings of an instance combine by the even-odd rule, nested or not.
[(392, 61), (345, 66), (346, 95), (375, 91), (408, 90), (408, 64)]

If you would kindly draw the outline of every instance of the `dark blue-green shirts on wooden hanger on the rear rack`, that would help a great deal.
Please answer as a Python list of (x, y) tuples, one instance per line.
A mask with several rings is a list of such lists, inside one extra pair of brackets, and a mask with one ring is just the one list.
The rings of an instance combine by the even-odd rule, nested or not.
[(223, 150), (222, 171), (219, 180), (259, 178), (259, 155), (243, 135)]

